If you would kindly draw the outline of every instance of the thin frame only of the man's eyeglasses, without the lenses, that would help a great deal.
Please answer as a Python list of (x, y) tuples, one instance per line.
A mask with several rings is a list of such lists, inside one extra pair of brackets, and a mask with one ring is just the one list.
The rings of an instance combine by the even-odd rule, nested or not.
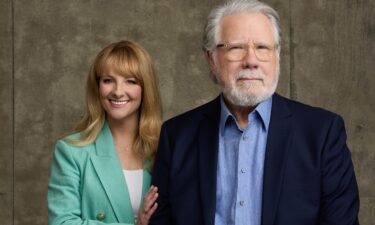
[(253, 42), (252, 45), (250, 45), (249, 43), (229, 43), (229, 42), (224, 42), (224, 43), (217, 44), (216, 48), (224, 48), (227, 51), (226, 53), (228, 53), (229, 52), (229, 47), (235, 46), (235, 45), (243, 47), (243, 49), (245, 49), (245, 54), (242, 56), (241, 59), (238, 59), (238, 60), (230, 60), (230, 59), (228, 59), (228, 57), (226, 57), (228, 61), (231, 61), (231, 62), (242, 61), (246, 57), (246, 55), (249, 54), (249, 47), (251, 47), (253, 49), (253, 51), (254, 51), (255, 57), (259, 61), (268, 62), (268, 61), (271, 61), (271, 58), (267, 59), (267, 60), (261, 59), (261, 57), (259, 57), (259, 55), (258, 55), (258, 53), (256, 51), (257, 50), (256, 48), (259, 47), (259, 46), (265, 46), (265, 47), (267, 47), (269, 49), (270, 54), (272, 54), (276, 49), (279, 48), (278, 44), (274, 44), (273, 46), (269, 46), (269, 45), (264, 44), (264, 43), (254, 43), (254, 42)]

